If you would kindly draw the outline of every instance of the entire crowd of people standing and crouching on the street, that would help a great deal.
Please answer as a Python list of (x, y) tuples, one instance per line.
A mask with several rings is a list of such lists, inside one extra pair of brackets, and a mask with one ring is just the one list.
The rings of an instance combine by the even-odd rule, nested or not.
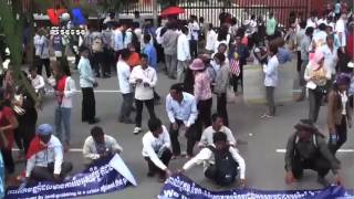
[[(148, 132), (143, 136), (142, 155), (147, 163), (148, 177), (159, 175), (164, 181), (173, 171), (169, 161), (186, 158), (188, 161), (179, 172), (205, 163), (204, 174), (218, 185), (230, 185), (237, 176), (240, 186), (246, 186), (246, 163), (238, 150), (237, 138), (228, 127), (228, 92), (242, 93), (243, 67), (250, 57), (264, 72), (264, 93), (268, 112), (264, 118), (277, 116), (274, 90), (279, 83), (279, 65), (290, 62), (298, 53), (298, 72), (302, 94), (309, 95), (309, 117), (295, 125), (285, 154), (285, 181), (300, 179), (303, 169), (319, 172), (319, 182), (327, 185), (325, 176), (330, 169), (341, 182), (340, 160), (336, 151), (346, 142), (347, 127), (352, 126), (354, 94), (353, 75), (353, 15), (341, 4), (329, 9), (317, 19), (315, 12), (305, 20), (292, 13), (289, 31), (279, 29), (272, 12), (266, 20), (251, 15), (240, 24), (236, 18), (220, 15), (220, 28), (205, 24), (204, 19), (191, 15), (187, 20), (170, 17), (160, 27), (138, 22), (118, 23), (106, 21), (87, 28), (86, 35), (79, 41), (76, 66), (82, 91), (82, 122), (94, 125), (96, 116), (94, 90), (97, 78), (110, 78), (117, 73), (122, 106), (117, 122), (133, 124), (134, 134), (142, 133), (143, 106), (148, 111)], [(24, 87), (15, 87), (11, 70), (3, 78), (0, 91), (0, 147), (7, 174), (14, 172), (11, 149), (15, 140), (20, 157), (25, 155), (24, 186), (31, 181), (62, 181), (72, 170), (64, 161), (71, 142), (71, 112), (76, 85), (70, 71), (60, 62), (51, 67), (50, 48), (55, 56), (62, 56), (64, 38), (48, 36), (40, 29), (34, 36), (35, 64), (29, 69), (29, 82), (39, 102)], [(46, 80), (42, 76), (45, 66)], [(160, 104), (156, 92), (158, 73), (165, 71), (174, 80), (165, 98), (169, 124), (167, 127), (155, 113)], [(239, 86), (240, 85), (240, 86)], [(48, 93), (54, 91), (54, 128), (49, 124), (37, 126), (38, 109)], [(231, 88), (230, 88), (231, 87)], [(212, 114), (214, 94), (217, 113)], [(327, 104), (329, 142), (315, 126), (322, 105)], [(131, 118), (135, 112), (135, 119)], [(178, 136), (187, 138), (187, 151), (181, 151)], [(198, 145), (198, 153), (194, 151)], [(116, 139), (100, 126), (91, 129), (83, 144), (85, 166), (97, 159), (123, 153)], [(21, 157), (22, 156), (22, 157)]]

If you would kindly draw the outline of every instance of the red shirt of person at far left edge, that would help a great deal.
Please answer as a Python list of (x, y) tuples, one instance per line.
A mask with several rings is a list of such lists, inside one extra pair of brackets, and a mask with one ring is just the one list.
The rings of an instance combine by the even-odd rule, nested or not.
[[(0, 127), (4, 127), (10, 125), (10, 121), (8, 118), (14, 117), (13, 111), (8, 107), (3, 106), (2, 111), (0, 112)], [(8, 149), (11, 149), (13, 146), (13, 129), (7, 129), (3, 132), (4, 137), (8, 139)], [(3, 148), (4, 144), (2, 137), (0, 137), (0, 148)]]

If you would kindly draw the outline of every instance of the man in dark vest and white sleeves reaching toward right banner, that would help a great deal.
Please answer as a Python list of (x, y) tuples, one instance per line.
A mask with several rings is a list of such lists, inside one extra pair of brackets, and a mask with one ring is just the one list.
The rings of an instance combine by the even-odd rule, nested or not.
[(196, 164), (205, 163), (205, 176), (219, 186), (235, 182), (240, 168), (240, 187), (246, 185), (246, 164), (235, 147), (227, 145), (227, 135), (218, 132), (214, 134), (214, 145), (201, 149), (199, 154), (187, 161), (180, 172), (185, 172)]

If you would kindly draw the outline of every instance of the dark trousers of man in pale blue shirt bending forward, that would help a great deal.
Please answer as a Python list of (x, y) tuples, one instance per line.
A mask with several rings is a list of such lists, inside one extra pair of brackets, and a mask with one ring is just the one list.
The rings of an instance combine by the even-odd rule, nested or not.
[[(180, 126), (184, 125), (183, 121), (176, 119), (176, 123), (178, 125), (178, 128), (176, 130), (174, 130), (173, 128), (173, 124), (170, 124), (169, 127), (169, 135), (170, 135), (170, 143), (173, 145), (173, 153), (175, 156), (179, 156), (180, 155), (180, 145), (178, 142), (178, 133), (179, 133), (179, 128)], [(196, 139), (196, 133), (195, 133), (195, 125), (191, 125), (188, 130), (186, 132), (186, 138), (187, 138), (187, 155), (188, 156), (192, 156), (192, 149), (195, 147), (195, 144), (197, 143)]]

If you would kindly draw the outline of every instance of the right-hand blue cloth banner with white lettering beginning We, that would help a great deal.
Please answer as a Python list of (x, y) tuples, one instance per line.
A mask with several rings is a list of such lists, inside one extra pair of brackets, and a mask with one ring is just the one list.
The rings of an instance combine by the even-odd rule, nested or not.
[(158, 199), (333, 199), (354, 198), (353, 191), (346, 191), (343, 187), (332, 186), (322, 190), (291, 190), (291, 191), (263, 191), (256, 189), (235, 189), (225, 191), (210, 191), (195, 184), (183, 175), (168, 178), (158, 195)]

